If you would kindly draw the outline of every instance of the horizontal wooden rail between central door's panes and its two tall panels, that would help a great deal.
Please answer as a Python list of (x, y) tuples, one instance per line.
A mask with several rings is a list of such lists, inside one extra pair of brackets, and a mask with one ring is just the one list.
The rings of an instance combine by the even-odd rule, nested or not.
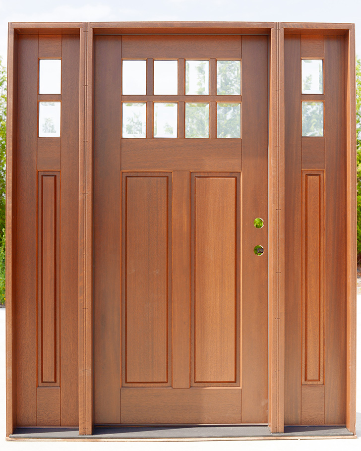
[(240, 139), (121, 140), (122, 170), (241, 170)]

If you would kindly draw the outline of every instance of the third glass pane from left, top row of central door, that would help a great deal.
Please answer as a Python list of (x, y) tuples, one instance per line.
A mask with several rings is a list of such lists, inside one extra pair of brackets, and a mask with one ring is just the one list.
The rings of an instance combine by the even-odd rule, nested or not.
[(209, 93), (209, 61), (185, 61), (185, 94), (204, 95)]

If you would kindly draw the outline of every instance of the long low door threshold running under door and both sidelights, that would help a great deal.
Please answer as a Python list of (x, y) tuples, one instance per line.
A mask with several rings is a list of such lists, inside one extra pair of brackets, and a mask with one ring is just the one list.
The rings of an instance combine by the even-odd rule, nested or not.
[(72, 428), (16, 428), (9, 441), (223, 441), (356, 438), (343, 426), (286, 426), (271, 434), (263, 425), (95, 427), (93, 435), (79, 435)]

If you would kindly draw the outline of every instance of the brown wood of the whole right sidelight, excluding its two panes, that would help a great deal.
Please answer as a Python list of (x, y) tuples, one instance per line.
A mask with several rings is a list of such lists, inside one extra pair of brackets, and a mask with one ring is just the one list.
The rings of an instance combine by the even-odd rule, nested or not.
[[(342, 107), (345, 105), (343, 39), (328, 34), (323, 39), (320, 36), (308, 36), (305, 39), (303, 34), (285, 37), (286, 147), (289, 149), (286, 156), (286, 247), (292, 249), (286, 253), (286, 424), (346, 422), (346, 117)], [(324, 50), (321, 48), (322, 43)], [(324, 57), (325, 138), (301, 139), (300, 101), (303, 96), (300, 79), (295, 75), (299, 73), (301, 57)], [(316, 100), (317, 96), (313, 97)], [(300, 212), (301, 203), (302, 218), (297, 213)], [(297, 241), (297, 236), (301, 235), (301, 230), (303, 253), (300, 254), (301, 243)], [(326, 252), (330, 246), (333, 249), (332, 258)], [(302, 323), (299, 307), (301, 293)], [(312, 309), (314, 311), (307, 320), (308, 309), (311, 309), (309, 313)], [(299, 344), (300, 324), (303, 324), (302, 347)], [(310, 331), (307, 331), (308, 327)], [(299, 372), (301, 366), (302, 381)], [(320, 388), (315, 388), (317, 386)], [(312, 390), (316, 394), (322, 392), (322, 396), (312, 396)]]

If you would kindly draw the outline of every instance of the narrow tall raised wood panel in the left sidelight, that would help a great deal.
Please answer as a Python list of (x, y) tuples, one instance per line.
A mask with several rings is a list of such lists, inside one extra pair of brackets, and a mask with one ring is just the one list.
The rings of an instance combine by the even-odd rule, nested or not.
[(38, 385), (59, 385), (60, 173), (38, 177)]

